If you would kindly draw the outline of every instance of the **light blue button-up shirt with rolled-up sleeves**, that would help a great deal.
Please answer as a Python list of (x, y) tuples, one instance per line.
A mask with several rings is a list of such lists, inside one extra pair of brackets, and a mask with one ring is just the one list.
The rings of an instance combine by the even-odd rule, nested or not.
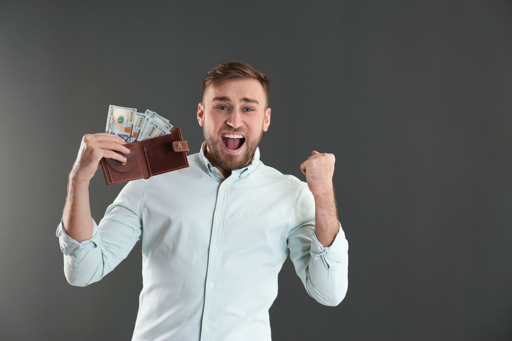
[(339, 304), (347, 291), (348, 243), (314, 233), (304, 181), (264, 165), (260, 151), (226, 179), (203, 153), (190, 167), (126, 184), (93, 221), (90, 240), (57, 227), (72, 285), (99, 281), (142, 238), (142, 290), (132, 340), (270, 340), (268, 310), (288, 256), (308, 294)]

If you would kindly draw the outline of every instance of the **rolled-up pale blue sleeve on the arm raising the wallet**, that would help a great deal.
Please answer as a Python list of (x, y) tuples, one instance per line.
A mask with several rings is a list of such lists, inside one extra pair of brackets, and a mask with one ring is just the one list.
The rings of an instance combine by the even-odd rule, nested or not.
[(126, 184), (99, 224), (93, 219), (93, 234), (88, 240), (78, 242), (71, 238), (60, 221), (55, 235), (59, 238), (64, 274), (70, 284), (86, 286), (97, 282), (128, 256), (142, 237), (144, 196), (144, 180)]

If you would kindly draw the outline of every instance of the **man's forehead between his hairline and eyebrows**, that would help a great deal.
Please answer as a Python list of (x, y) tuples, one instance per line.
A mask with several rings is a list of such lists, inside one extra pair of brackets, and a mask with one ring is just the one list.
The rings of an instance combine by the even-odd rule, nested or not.
[(205, 89), (203, 97), (211, 101), (214, 97), (227, 97), (232, 101), (242, 98), (266, 100), (265, 90), (261, 83), (253, 78), (228, 79), (219, 84), (210, 84)]

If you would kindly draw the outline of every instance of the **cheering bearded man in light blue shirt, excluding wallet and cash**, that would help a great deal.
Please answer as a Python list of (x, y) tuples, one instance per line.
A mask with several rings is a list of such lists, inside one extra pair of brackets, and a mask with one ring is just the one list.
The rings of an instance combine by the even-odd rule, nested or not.
[(334, 306), (347, 290), (348, 244), (338, 221), (334, 155), (313, 151), (307, 184), (264, 165), (267, 77), (241, 62), (203, 81), (197, 109), (205, 142), (189, 168), (128, 183), (97, 225), (89, 181), (101, 157), (126, 159), (123, 141), (84, 135), (57, 228), (69, 283), (99, 281), (142, 238), (133, 340), (270, 340), (268, 309), (290, 251), (307, 292)]

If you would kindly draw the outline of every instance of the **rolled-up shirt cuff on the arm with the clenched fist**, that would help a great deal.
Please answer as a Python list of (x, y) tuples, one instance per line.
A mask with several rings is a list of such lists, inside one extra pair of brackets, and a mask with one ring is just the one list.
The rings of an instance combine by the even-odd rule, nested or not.
[(318, 241), (316, 233), (313, 231), (311, 238), (311, 257), (315, 262), (323, 261), (329, 270), (328, 278), (331, 278), (336, 271), (336, 267), (343, 261), (344, 255), (348, 252), (348, 243), (345, 239), (345, 233), (342, 230), (342, 224), (339, 223), (338, 232), (331, 246), (324, 246)]

